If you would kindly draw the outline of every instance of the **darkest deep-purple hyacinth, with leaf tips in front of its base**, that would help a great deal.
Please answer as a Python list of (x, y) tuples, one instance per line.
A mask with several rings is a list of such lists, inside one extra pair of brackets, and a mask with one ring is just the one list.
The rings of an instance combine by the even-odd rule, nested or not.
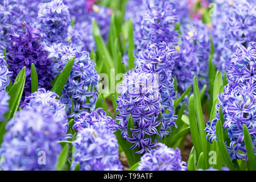
[[(7, 54), (7, 63), (10, 65), (9, 70), (13, 72), (12, 82), (15, 81), (20, 70), (26, 67), (26, 82), (23, 96), (30, 96), (31, 64), (34, 63), (36, 67), (39, 88), (48, 90), (51, 88), (51, 60), (47, 59), (47, 53), (43, 50), (42, 44), (40, 44), (40, 31), (24, 22), (19, 28), (19, 34), (11, 35), (11, 46), (7, 48), (9, 52)], [(24, 97), (22, 98), (23, 100)]]

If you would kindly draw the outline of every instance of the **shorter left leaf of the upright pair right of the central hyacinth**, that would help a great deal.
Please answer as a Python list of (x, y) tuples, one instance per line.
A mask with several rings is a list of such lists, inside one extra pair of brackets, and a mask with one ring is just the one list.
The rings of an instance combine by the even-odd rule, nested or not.
[(189, 126), (191, 128), (191, 138), (193, 142), (193, 146), (195, 147), (197, 159), (199, 158), (199, 154), (202, 152), (201, 142), (199, 137), (199, 130), (196, 123), (196, 111), (195, 111), (195, 101), (194, 94), (192, 94), (189, 98), (188, 102), (188, 115), (189, 115)]

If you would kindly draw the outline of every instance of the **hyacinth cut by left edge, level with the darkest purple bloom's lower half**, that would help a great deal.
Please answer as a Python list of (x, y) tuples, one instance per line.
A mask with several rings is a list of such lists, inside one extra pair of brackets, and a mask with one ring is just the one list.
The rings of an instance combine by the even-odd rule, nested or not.
[(11, 72), (9, 72), (6, 61), (4, 59), (4, 56), (0, 55), (0, 91), (4, 90), (6, 86), (10, 83), (10, 76), (12, 75)]

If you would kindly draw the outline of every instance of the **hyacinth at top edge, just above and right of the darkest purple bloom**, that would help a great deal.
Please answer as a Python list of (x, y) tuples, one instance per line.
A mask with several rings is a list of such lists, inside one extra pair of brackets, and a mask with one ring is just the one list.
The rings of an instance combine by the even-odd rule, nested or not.
[(42, 30), (42, 40), (47, 45), (66, 42), (71, 18), (62, 0), (40, 3), (37, 26)]

